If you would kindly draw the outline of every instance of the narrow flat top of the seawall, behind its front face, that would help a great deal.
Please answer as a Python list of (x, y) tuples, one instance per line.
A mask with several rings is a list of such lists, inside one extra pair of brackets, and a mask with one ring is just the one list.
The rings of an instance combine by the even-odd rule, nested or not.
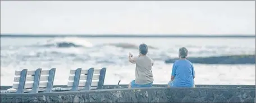
[[(104, 85), (103, 89), (114, 89), (117, 85)], [(118, 85), (122, 89), (128, 88), (128, 85)], [(66, 85), (55, 85), (53, 87), (67, 87)], [(153, 87), (167, 87), (167, 85), (154, 84)], [(214, 87), (214, 88), (255, 88), (255, 85), (195, 85), (195, 87)], [(0, 86), (1, 90), (7, 90), (12, 86)]]

